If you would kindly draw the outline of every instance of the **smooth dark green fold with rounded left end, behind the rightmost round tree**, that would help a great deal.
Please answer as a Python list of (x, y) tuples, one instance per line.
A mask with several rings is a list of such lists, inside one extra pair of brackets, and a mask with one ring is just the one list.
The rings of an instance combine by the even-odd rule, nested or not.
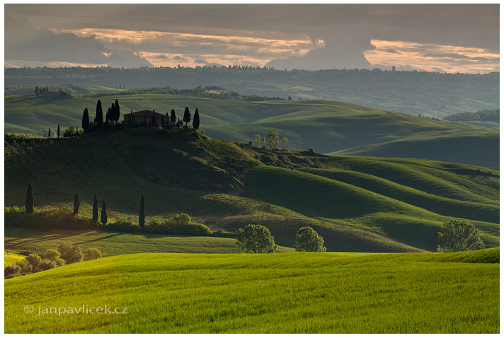
[[(318, 170), (315, 173), (319, 174)], [(431, 204), (418, 198), (418, 194), (398, 194), (395, 197), (401, 199), (393, 199), (343, 180), (331, 180), (323, 176), (286, 168), (258, 166), (248, 170), (244, 182), (248, 190), (266, 202), (307, 216), (365, 227), (424, 250), (435, 250), (437, 231), (447, 218), (453, 217), (469, 218), (479, 228), (488, 245), (498, 246), (497, 205), (442, 199), (445, 207), (432, 207), (445, 215), (441, 216), (429, 211), (426, 206)], [(375, 190), (382, 192), (380, 188), (382, 187), (375, 187)]]

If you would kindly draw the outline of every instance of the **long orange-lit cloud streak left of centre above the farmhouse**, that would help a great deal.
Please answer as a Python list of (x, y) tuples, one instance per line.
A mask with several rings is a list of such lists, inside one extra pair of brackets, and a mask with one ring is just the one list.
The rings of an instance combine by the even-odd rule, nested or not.
[[(203, 66), (241, 64), (264, 66), (272, 59), (302, 57), (311, 49), (323, 47), (323, 40), (306, 37), (275, 39), (241, 35), (202, 35), (117, 29), (84, 28), (54, 30), (81, 37), (94, 36), (109, 47), (136, 49), (134, 54), (154, 66)], [(200, 62), (198, 62), (200, 61)]]

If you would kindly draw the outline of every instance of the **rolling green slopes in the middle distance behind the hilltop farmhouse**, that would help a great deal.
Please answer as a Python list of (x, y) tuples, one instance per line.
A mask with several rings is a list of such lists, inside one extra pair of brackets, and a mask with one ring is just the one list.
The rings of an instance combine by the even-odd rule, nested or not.
[(57, 124), (63, 129), (80, 127), (84, 108), (88, 107), (92, 120), (98, 99), (105, 110), (118, 99), (122, 115), (145, 109), (165, 114), (175, 109), (181, 117), (185, 106), (190, 112), (198, 108), (200, 129), (220, 139), (248, 142), (255, 134), (265, 136), (268, 128), (276, 128), (280, 139), (287, 136), (292, 149), (499, 165), (498, 131), (329, 100), (244, 102), (161, 94), (7, 96), (5, 129), (45, 136), (47, 128), (55, 130)]

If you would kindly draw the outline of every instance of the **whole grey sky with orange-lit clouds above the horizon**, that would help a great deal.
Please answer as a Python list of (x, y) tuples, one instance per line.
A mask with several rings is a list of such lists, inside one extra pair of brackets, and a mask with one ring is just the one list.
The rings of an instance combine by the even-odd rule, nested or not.
[(5, 66), (499, 71), (499, 4), (5, 4)]

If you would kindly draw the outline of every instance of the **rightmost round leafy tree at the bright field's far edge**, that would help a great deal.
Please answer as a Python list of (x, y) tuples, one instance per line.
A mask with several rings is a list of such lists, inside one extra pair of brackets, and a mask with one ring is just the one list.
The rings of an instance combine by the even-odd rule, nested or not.
[(437, 252), (481, 250), (485, 244), (479, 237), (479, 231), (466, 221), (451, 219), (442, 225), (437, 233), (439, 245)]

